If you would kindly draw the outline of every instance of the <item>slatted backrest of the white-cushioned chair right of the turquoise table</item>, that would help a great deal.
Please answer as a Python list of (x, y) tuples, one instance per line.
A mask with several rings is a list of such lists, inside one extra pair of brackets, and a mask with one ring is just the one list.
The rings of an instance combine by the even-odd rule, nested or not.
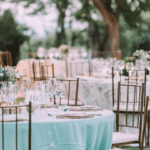
[[(121, 88), (127, 88), (126, 91)], [(133, 89), (133, 90), (132, 90)], [(142, 93), (141, 93), (142, 89)], [(132, 90), (132, 91), (131, 91)], [(137, 91), (138, 90), (138, 91)], [(133, 93), (129, 93), (129, 91)], [(124, 94), (126, 92), (126, 100), (124, 101)], [(120, 114), (125, 114), (125, 126), (129, 127), (137, 127), (139, 126), (139, 120), (142, 120), (141, 112), (143, 113), (144, 108), (144, 101), (145, 101), (145, 84), (143, 83), (141, 86), (139, 85), (129, 85), (129, 84), (121, 84), (118, 82), (118, 101), (117, 101), (117, 127), (116, 130), (119, 130), (119, 126), (122, 124), (120, 123)], [(123, 96), (122, 96), (123, 95)], [(129, 96), (130, 95), (130, 96)], [(129, 117), (130, 115), (130, 117)], [(139, 116), (140, 115), (140, 116)], [(139, 119), (140, 117), (140, 119)], [(135, 119), (137, 118), (137, 120)], [(129, 122), (129, 119), (131, 122)], [(135, 124), (135, 121), (137, 121), (137, 124)], [(141, 123), (140, 123), (141, 124)]]

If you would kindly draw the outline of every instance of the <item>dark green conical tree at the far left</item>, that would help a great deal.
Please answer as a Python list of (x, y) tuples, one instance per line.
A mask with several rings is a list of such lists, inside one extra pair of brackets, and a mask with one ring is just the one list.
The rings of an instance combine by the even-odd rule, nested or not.
[(19, 46), (26, 40), (28, 36), (23, 34), (27, 30), (26, 27), (19, 27), (15, 22), (10, 10), (5, 10), (0, 17), (0, 50), (10, 51), (12, 53), (13, 65), (17, 63), (17, 55), (19, 54)]

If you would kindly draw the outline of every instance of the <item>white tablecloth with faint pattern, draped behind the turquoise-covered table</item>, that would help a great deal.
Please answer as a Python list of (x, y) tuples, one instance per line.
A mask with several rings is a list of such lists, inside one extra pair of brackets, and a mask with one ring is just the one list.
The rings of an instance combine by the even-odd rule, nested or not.
[[(86, 80), (86, 81), (84, 81)], [(115, 101), (117, 101), (118, 79), (115, 79)], [(133, 96), (133, 89), (129, 94)], [(146, 84), (146, 95), (150, 96), (150, 82)], [(123, 95), (126, 98), (126, 93)], [(82, 78), (79, 82), (79, 99), (85, 105), (97, 105), (104, 109), (112, 110), (112, 79), (92, 79), (92, 77)]]

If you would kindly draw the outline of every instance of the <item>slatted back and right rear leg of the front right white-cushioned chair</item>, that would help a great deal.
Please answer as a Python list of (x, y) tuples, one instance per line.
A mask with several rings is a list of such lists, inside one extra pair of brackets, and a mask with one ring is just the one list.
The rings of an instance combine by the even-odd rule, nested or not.
[[(121, 88), (126, 87), (126, 100), (122, 101)], [(131, 98), (129, 91), (134, 89)], [(146, 141), (146, 118), (149, 97), (145, 96), (145, 83), (142, 85), (122, 84), (118, 82), (118, 97), (117, 97), (117, 111), (116, 111), (116, 131), (119, 132), (120, 127), (137, 128), (139, 130), (139, 144), (143, 148), (144, 140)], [(129, 96), (130, 95), (130, 96)], [(131, 98), (131, 99), (130, 99)], [(122, 107), (123, 106), (123, 107)], [(125, 106), (125, 107), (124, 107)], [(120, 114), (125, 115), (124, 124), (120, 121)], [(130, 115), (130, 116), (129, 116)], [(146, 141), (147, 142), (147, 141)]]

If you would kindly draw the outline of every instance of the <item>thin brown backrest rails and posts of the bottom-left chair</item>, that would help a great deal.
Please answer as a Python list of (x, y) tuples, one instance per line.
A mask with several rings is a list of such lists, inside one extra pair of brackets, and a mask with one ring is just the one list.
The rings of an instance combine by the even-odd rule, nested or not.
[(31, 150), (31, 102), (29, 102), (28, 105), (20, 105), (20, 106), (3, 106), (0, 107), (2, 109), (2, 150), (5, 150), (5, 143), (4, 143), (4, 109), (5, 108), (15, 108), (15, 130), (16, 130), (16, 135), (15, 135), (15, 145), (16, 145), (16, 150), (18, 149), (18, 107), (29, 107), (29, 129), (28, 129), (28, 150)]

